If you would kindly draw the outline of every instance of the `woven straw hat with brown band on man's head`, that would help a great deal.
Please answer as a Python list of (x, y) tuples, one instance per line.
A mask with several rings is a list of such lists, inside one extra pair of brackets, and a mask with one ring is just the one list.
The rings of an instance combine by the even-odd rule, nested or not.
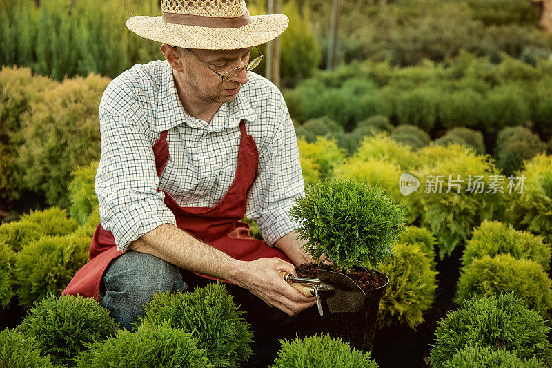
[(141, 37), (183, 48), (230, 50), (266, 43), (288, 26), (284, 14), (250, 16), (245, 0), (161, 0), (161, 17), (131, 17)]

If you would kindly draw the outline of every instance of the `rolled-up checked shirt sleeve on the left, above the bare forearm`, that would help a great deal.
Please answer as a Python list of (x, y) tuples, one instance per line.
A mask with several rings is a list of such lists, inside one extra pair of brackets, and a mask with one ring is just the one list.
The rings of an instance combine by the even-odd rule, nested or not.
[(157, 191), (159, 177), (146, 131), (123, 116), (100, 117), (101, 159), (95, 178), (101, 224), (119, 251), (161, 224), (176, 224)]

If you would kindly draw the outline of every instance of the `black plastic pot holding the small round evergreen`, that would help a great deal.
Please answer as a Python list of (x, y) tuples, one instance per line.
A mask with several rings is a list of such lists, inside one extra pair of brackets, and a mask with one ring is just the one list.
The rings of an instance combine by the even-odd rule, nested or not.
[[(384, 275), (379, 271), (375, 272)], [(384, 285), (371, 291), (365, 291), (366, 299), (359, 311), (330, 313), (328, 304), (322, 296), (320, 302), (324, 316), (319, 315), (316, 305), (298, 313), (299, 337), (329, 333), (333, 338), (342, 338), (343, 341), (348, 341), (355, 349), (372, 351), (380, 299), (384, 296), (389, 284), (389, 278), (387, 275), (384, 276), (386, 279)]]

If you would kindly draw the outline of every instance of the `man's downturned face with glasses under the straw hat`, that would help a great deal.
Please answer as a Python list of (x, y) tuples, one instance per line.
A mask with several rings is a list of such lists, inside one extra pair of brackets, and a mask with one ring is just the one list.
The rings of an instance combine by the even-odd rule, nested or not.
[[(208, 103), (219, 103), (233, 101), (243, 84), (247, 83), (247, 72), (242, 70), (239, 75), (231, 81), (222, 81), (219, 74), (228, 70), (246, 66), (249, 62), (252, 48), (237, 50), (198, 50), (190, 51), (179, 48), (182, 68), (184, 70), (184, 83), (190, 87), (195, 96)], [(194, 56), (195, 55), (195, 56)], [(210, 70), (208, 66), (213, 68)]]

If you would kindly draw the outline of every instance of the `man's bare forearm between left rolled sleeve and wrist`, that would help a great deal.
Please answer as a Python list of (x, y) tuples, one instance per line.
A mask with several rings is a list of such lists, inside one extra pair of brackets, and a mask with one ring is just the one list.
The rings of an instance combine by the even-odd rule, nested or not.
[(155, 255), (182, 269), (239, 284), (242, 261), (197, 240), (172, 224), (163, 224), (132, 242), (130, 249)]

